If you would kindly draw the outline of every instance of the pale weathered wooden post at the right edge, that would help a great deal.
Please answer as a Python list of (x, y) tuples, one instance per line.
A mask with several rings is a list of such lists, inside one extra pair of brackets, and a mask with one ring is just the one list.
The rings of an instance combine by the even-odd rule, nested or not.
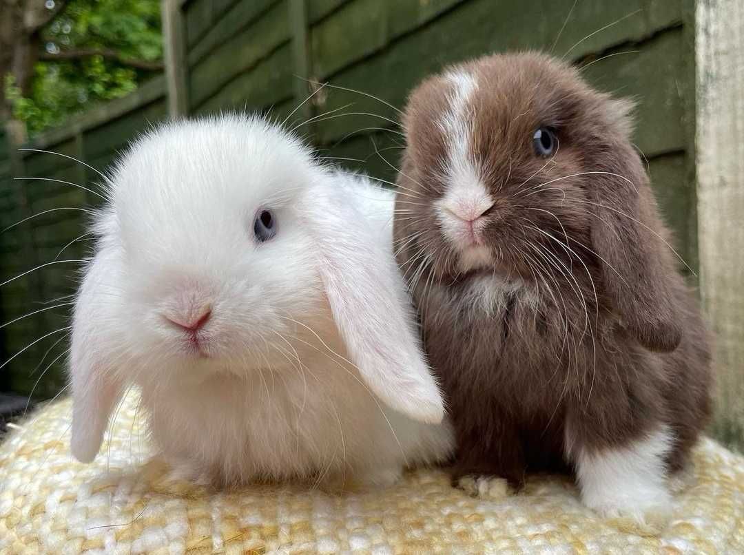
[(744, 450), (744, 4), (696, 4), (700, 289), (716, 334), (713, 430)]

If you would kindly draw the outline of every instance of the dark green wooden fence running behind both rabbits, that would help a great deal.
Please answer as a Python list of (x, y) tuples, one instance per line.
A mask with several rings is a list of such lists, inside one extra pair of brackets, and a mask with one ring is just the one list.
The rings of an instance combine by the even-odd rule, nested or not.
[[(540, 48), (582, 66), (600, 89), (638, 101), (635, 144), (648, 160), (680, 253), (698, 268), (693, 0), (167, 0), (163, 13), (167, 75), (48, 133), (33, 148), (71, 155), (104, 170), (148, 122), (167, 115), (248, 109), (283, 119), (317, 82), (403, 106), (418, 81), (450, 62)], [(294, 118), (310, 120), (299, 129), (324, 155), (358, 158), (363, 162), (344, 164), (394, 179), (388, 161), (397, 164), (402, 139), (387, 121), (396, 120), (397, 113), (384, 103), (324, 89)], [(8, 153), (7, 147), (0, 148), (0, 177), (10, 176)], [(16, 175), (77, 184), (95, 179), (92, 170), (68, 158), (42, 153), (22, 153)], [(96, 204), (90, 193), (60, 183), (5, 179), (4, 184), (3, 228), (41, 211)], [(10, 278), (53, 260), (84, 233), (85, 216), (77, 210), (54, 211), (1, 234), (1, 275)], [(85, 250), (84, 241), (72, 243), (59, 258), (77, 260)], [(68, 295), (75, 267), (53, 264), (3, 286), (2, 320)], [(695, 275), (689, 278), (696, 283)], [(30, 372), (62, 339), (64, 332), (54, 330), (68, 325), (67, 314), (68, 307), (59, 307), (0, 330), (6, 359), (51, 333), (0, 371), (2, 387), (31, 391), (39, 370)], [(47, 356), (40, 370), (54, 357), (60, 359), (35, 395), (48, 397), (62, 385), (66, 348), (62, 339)]]

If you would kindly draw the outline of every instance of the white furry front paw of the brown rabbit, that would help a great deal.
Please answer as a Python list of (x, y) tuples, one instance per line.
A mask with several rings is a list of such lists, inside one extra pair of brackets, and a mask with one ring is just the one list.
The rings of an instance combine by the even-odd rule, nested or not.
[(588, 452), (576, 449), (577, 478), (581, 496), (603, 516), (645, 522), (669, 513), (664, 458), (672, 437), (666, 427), (629, 445)]

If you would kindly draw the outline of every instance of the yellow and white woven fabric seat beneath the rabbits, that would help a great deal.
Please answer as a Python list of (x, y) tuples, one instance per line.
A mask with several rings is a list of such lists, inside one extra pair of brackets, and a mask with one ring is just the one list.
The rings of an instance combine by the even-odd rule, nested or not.
[(712, 440), (659, 535), (597, 518), (565, 478), (472, 498), (441, 471), (388, 490), (299, 487), (216, 493), (150, 457), (135, 397), (91, 465), (69, 454), (71, 402), (52, 403), (0, 446), (0, 553), (744, 553), (744, 458)]

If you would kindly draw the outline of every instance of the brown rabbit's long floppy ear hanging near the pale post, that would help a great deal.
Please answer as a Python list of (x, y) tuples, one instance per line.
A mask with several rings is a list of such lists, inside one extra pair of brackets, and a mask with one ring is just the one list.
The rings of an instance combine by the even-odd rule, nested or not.
[(590, 188), (591, 240), (623, 324), (647, 349), (668, 352), (682, 339), (675, 265), (638, 153), (627, 141), (614, 150), (616, 164), (602, 168)]

